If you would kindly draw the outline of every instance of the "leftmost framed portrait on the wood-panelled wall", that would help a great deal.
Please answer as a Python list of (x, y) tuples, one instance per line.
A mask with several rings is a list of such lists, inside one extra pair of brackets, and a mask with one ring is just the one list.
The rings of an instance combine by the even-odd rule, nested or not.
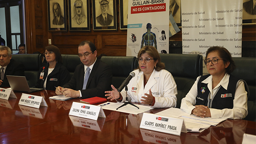
[(67, 16), (65, 0), (47, 0), (48, 30), (67, 31)]

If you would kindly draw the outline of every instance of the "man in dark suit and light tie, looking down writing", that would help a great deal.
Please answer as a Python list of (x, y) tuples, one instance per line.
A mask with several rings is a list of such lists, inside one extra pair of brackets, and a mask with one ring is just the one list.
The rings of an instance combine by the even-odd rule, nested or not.
[(77, 65), (73, 77), (67, 84), (56, 88), (56, 94), (72, 98), (104, 97), (104, 92), (111, 90), (112, 70), (96, 58), (96, 47), (90, 41), (86, 40), (79, 44), (78, 56), (82, 63)]

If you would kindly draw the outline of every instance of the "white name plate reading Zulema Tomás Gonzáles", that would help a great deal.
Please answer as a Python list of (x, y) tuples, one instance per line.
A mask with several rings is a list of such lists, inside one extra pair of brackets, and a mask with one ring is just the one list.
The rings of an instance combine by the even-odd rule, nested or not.
[(106, 117), (101, 106), (73, 102), (69, 115), (97, 120), (98, 117)]

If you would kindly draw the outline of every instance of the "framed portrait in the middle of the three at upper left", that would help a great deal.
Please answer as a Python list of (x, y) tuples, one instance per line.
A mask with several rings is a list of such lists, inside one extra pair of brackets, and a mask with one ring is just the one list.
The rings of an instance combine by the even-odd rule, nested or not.
[(69, 31), (90, 31), (90, 1), (68, 0)]

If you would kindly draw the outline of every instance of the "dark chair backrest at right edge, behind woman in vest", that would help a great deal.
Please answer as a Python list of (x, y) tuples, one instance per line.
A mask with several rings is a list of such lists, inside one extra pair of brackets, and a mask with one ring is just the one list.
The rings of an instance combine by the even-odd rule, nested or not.
[(236, 69), (231, 73), (248, 84), (248, 115), (246, 120), (256, 121), (256, 58), (233, 58)]

